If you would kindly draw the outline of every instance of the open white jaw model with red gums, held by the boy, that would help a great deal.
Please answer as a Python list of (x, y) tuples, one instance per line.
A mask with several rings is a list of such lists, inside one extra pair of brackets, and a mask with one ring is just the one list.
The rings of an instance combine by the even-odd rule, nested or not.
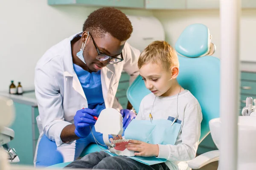
[(121, 156), (134, 156), (134, 151), (125, 148), (129, 139), (119, 139), (111, 143), (108, 135), (122, 135), (122, 115), (113, 108), (106, 108), (100, 113), (94, 127), (95, 131), (103, 134), (103, 141), (108, 146), (109, 151)]

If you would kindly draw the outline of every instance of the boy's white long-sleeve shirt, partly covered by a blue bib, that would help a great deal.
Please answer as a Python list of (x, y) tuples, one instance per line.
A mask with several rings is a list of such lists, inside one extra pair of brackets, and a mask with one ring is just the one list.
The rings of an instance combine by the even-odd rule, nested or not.
[[(155, 96), (152, 93), (143, 98), (136, 119), (150, 120), (149, 113), (151, 112), (154, 99)], [(168, 97), (157, 96), (151, 114), (153, 121), (168, 119), (169, 116), (176, 117), (177, 95)], [(181, 128), (175, 145), (158, 144), (159, 155), (157, 158), (167, 159), (166, 165), (171, 170), (186, 169), (188, 167), (186, 161), (195, 158), (201, 134), (201, 107), (198, 100), (187, 90), (180, 92), (178, 96), (178, 114), (178, 119), (181, 120)]]

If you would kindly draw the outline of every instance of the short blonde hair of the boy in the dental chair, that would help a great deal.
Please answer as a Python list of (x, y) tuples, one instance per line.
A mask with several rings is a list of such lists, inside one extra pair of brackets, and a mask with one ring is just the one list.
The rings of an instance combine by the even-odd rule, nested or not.
[(148, 62), (161, 64), (167, 70), (173, 66), (179, 67), (177, 53), (166, 41), (151, 42), (142, 51), (138, 60), (139, 69)]

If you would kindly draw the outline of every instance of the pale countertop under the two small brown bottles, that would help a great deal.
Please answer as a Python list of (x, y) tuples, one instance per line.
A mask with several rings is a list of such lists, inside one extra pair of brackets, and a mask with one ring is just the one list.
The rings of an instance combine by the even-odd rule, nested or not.
[(29, 92), (25, 91), (22, 95), (9, 94), (9, 92), (5, 91), (5, 92), (0, 92), (0, 96), (8, 97), (17, 103), (31, 105), (31, 106), (37, 106), (37, 101), (35, 98), (34, 91), (29, 91)]

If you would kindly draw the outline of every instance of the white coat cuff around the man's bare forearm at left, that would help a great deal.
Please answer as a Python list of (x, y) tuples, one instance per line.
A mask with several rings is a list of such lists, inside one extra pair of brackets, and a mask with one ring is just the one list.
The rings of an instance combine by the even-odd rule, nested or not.
[[(53, 125), (51, 128), (53, 128), (53, 130), (55, 131), (54, 133), (54, 139), (55, 139), (55, 143), (57, 145), (57, 147), (59, 147), (61, 144), (63, 144), (64, 142), (61, 140), (61, 132), (64, 129), (64, 127), (66, 127), (67, 125), (71, 125), (72, 123), (70, 122), (66, 122), (66, 121), (61, 121), (56, 123), (55, 125)], [(71, 142), (71, 141), (70, 141)], [(67, 143), (67, 142), (65, 142)]]

